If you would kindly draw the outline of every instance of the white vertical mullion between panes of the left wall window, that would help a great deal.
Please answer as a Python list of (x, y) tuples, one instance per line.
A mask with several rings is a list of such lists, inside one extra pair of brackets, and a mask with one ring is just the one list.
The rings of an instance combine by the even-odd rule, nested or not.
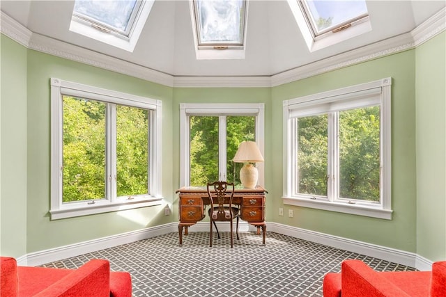
[(106, 160), (107, 163), (107, 199), (110, 202), (116, 201), (116, 104), (107, 104), (107, 145)]

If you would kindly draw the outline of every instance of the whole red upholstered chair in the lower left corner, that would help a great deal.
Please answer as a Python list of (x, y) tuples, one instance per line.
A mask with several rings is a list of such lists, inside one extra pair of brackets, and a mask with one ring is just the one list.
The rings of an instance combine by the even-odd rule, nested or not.
[(105, 259), (92, 259), (77, 269), (17, 266), (12, 257), (0, 261), (0, 296), (132, 296), (130, 273), (110, 271)]

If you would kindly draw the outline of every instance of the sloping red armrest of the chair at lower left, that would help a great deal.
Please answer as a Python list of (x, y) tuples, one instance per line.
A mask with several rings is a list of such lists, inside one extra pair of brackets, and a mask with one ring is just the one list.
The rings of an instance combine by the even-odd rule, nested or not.
[(54, 282), (35, 297), (109, 297), (110, 264), (92, 259)]

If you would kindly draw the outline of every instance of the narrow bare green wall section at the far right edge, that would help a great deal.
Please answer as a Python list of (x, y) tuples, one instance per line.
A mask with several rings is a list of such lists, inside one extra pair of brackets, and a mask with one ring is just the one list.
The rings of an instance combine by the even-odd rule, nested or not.
[(446, 33), (416, 49), (417, 254), (446, 259)]

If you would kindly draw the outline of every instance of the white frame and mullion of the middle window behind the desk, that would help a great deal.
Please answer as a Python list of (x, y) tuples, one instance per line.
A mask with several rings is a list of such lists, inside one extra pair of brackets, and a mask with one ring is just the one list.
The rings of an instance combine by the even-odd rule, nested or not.
[[(264, 156), (265, 104), (180, 104), (180, 186), (190, 186), (190, 116), (220, 116), (219, 125), (226, 125), (221, 116), (251, 115), (256, 118), (256, 143)], [(226, 143), (226, 134), (219, 133), (219, 143)], [(219, 145), (219, 176), (226, 180), (226, 151)], [(263, 163), (256, 163), (259, 185), (264, 186)]]

